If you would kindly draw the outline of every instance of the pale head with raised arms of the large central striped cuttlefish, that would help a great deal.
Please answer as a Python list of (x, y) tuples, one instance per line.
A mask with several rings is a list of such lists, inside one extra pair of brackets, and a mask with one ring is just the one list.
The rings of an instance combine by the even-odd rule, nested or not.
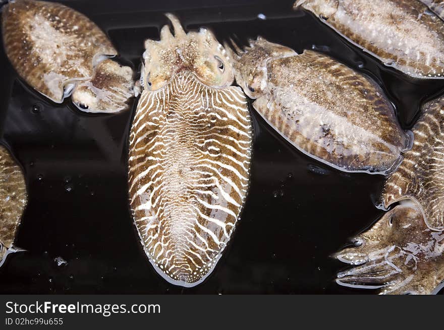
[(181, 70), (193, 72), (204, 84), (226, 87), (233, 83), (233, 69), (224, 47), (211, 31), (185, 33), (176, 16), (166, 14), (173, 25), (160, 30), (160, 40), (146, 40), (143, 53), (144, 68), (141, 84), (145, 89), (156, 90), (167, 84)]

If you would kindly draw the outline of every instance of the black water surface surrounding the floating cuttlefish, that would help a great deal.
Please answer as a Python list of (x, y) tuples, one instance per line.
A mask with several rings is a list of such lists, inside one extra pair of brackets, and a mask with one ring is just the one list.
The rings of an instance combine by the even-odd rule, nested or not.
[[(143, 40), (176, 13), (185, 28), (211, 28), (240, 44), (262, 35), (298, 52), (315, 48), (375, 79), (409, 129), (444, 80), (410, 80), (347, 44), (292, 1), (64, 1), (105, 30), (137, 71)], [(223, 4), (222, 4), (223, 3)], [(266, 20), (257, 18), (264, 14)], [(127, 203), (130, 111), (88, 115), (23, 83), (0, 48), (0, 131), (23, 165), (29, 200), (16, 245), (0, 268), (1, 293), (374, 293), (334, 282), (330, 257), (383, 213), (383, 177), (347, 174), (302, 154), (252, 111), (251, 186), (241, 221), (215, 270), (183, 289), (164, 281), (143, 252)], [(252, 107), (251, 107), (252, 109)], [(67, 263), (58, 265), (56, 258)], [(58, 260), (62, 260), (58, 259)], [(59, 262), (60, 263), (60, 262)], [(442, 293), (442, 290), (441, 290)]]

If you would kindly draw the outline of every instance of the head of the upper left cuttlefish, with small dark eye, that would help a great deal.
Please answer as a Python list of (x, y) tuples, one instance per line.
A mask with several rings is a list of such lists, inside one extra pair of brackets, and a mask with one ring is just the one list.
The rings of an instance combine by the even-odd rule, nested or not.
[(84, 112), (115, 113), (127, 109), (132, 96), (133, 70), (113, 60), (104, 60), (95, 66), (90, 80), (77, 84), (72, 101)]

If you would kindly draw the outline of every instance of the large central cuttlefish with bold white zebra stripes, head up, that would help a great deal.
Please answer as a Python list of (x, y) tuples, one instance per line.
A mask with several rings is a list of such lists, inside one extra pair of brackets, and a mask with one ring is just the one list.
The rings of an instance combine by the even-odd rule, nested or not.
[(235, 229), (249, 176), (252, 127), (245, 95), (231, 86), (223, 46), (178, 19), (146, 40), (143, 91), (129, 142), (129, 196), (155, 270), (184, 287), (201, 283)]

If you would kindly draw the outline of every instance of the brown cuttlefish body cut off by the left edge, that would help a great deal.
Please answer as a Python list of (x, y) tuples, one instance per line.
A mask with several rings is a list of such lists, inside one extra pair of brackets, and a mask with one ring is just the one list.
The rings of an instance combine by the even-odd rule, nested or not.
[(9, 151), (0, 145), (0, 261), (14, 242), (26, 200), (22, 170)]

